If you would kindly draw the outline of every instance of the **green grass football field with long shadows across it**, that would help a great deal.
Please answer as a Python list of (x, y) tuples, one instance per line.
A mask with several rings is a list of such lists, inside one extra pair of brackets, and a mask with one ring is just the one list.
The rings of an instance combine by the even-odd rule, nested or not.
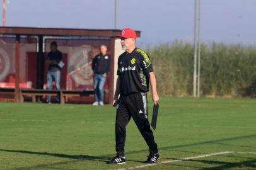
[(256, 169), (255, 99), (166, 97), (159, 114), (158, 164), (144, 167), (148, 147), (131, 120), (126, 164), (109, 165), (113, 106), (0, 102), (0, 169)]

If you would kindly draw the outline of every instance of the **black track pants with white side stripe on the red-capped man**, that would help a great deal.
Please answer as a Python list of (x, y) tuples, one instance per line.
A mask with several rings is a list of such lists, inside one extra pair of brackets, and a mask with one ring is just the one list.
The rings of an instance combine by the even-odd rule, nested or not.
[(129, 120), (134, 122), (148, 144), (150, 152), (158, 152), (156, 142), (154, 142), (153, 132), (148, 122), (148, 104), (146, 93), (133, 93), (128, 96), (120, 96), (117, 102), (117, 115), (115, 120), (115, 150), (124, 152), (124, 142), (126, 136), (125, 127)]

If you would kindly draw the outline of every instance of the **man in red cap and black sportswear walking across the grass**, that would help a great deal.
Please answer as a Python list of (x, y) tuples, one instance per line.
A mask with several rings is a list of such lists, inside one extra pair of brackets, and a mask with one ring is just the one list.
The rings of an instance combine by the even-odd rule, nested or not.
[(151, 60), (146, 52), (136, 48), (136, 32), (130, 28), (124, 28), (120, 38), (122, 49), (125, 52), (118, 59), (118, 78), (113, 99), (113, 105), (117, 107), (115, 120), (115, 150), (117, 156), (107, 163), (125, 163), (125, 127), (132, 117), (149, 147), (149, 156), (145, 162), (153, 164), (158, 161), (159, 154), (148, 122), (147, 92), (150, 82), (152, 99), (154, 105), (156, 105), (159, 100), (156, 91), (156, 77), (154, 76)]

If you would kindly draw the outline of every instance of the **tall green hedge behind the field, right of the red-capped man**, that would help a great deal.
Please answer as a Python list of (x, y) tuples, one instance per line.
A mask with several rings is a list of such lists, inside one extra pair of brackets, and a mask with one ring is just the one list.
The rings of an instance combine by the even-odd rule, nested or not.
[[(191, 96), (194, 46), (175, 41), (147, 47), (161, 95)], [(201, 44), (201, 95), (255, 96), (256, 47)]]

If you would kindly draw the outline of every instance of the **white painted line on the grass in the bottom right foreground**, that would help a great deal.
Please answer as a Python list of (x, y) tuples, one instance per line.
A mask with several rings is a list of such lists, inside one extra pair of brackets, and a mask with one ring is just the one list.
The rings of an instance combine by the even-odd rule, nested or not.
[(156, 165), (159, 165), (159, 164), (169, 164), (169, 163), (172, 163), (172, 162), (182, 162), (182, 161), (188, 161), (188, 160), (198, 159), (198, 158), (202, 158), (202, 157), (219, 156), (219, 155), (223, 155), (223, 154), (235, 154), (235, 153), (236, 154), (256, 154), (256, 152), (226, 151), (226, 152), (205, 154), (205, 155), (201, 155), (201, 156), (185, 157), (185, 158), (182, 158), (182, 159), (175, 159), (175, 160), (171, 160), (171, 161), (162, 161), (162, 162), (158, 162), (157, 164), (146, 164), (146, 165), (142, 165), (142, 166), (125, 167), (125, 168), (120, 168), (120, 169), (117, 169), (117, 170), (138, 169), (138, 168), (143, 168), (143, 167), (148, 167), (148, 166), (156, 166)]

